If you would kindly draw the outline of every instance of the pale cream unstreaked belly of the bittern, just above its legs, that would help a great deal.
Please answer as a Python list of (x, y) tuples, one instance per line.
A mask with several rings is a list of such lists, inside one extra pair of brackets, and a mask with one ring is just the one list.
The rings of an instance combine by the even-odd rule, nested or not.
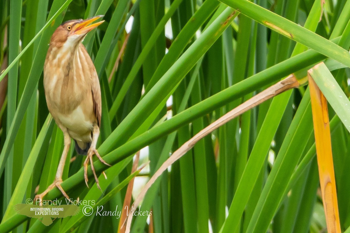
[(68, 129), (71, 138), (85, 142), (91, 141), (93, 124), (89, 119), (85, 119), (80, 105), (69, 114), (58, 113), (57, 118)]

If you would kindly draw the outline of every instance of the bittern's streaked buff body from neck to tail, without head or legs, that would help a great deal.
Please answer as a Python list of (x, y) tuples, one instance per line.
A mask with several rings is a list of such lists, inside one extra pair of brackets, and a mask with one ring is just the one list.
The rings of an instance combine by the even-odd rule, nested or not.
[[(93, 126), (100, 126), (101, 91), (84, 45), (70, 46), (69, 41), (61, 48), (50, 44), (44, 65), (45, 96), (59, 128), (66, 128), (80, 149), (86, 151)], [(64, 55), (59, 56), (62, 50)]]

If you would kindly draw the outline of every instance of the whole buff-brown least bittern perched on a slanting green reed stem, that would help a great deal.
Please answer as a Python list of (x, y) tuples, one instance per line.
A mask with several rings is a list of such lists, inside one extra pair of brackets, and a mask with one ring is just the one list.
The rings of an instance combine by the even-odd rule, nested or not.
[(101, 162), (109, 165), (96, 150), (101, 122), (101, 90), (96, 68), (82, 44), (87, 32), (104, 21), (89, 24), (101, 17), (103, 16), (66, 21), (51, 37), (44, 64), (44, 89), (48, 109), (57, 126), (63, 131), (64, 148), (54, 182), (44, 192), (35, 196), (35, 199), (40, 201), (55, 187), (69, 199), (61, 183), (71, 138), (75, 141), (77, 153), (87, 155), (84, 161), (86, 185), (87, 166), (90, 162), (97, 187), (100, 189), (92, 163), (94, 154)]

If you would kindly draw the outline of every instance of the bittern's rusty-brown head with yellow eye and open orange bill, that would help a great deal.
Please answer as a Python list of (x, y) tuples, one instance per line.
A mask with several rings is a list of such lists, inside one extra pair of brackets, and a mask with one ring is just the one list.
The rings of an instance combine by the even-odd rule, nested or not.
[(71, 48), (76, 48), (79, 45), (87, 32), (96, 28), (104, 22), (104, 20), (90, 24), (103, 17), (98, 15), (86, 20), (69, 20), (62, 23), (52, 34), (50, 46), (61, 47), (63, 45)]

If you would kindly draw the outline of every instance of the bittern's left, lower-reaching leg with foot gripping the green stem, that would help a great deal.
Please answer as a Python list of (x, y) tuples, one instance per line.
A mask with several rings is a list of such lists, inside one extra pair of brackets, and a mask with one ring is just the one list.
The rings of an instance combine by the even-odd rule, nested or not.
[(59, 160), (59, 164), (58, 164), (55, 180), (54, 180), (54, 182), (52, 184), (49, 185), (49, 187), (45, 191), (43, 191), (41, 194), (37, 194), (35, 196), (35, 198), (34, 198), (34, 200), (39, 200), (40, 205), (42, 205), (43, 197), (49, 191), (54, 189), (55, 187), (57, 187), (59, 189), (59, 191), (62, 192), (63, 196), (70, 201), (69, 196), (63, 190), (63, 188), (61, 186), (61, 183), (62, 183), (63, 168), (64, 168), (64, 164), (65, 164), (65, 161), (66, 161), (66, 158), (67, 158), (67, 154), (68, 154), (68, 151), (69, 151), (71, 140), (70, 140), (70, 137), (69, 137), (69, 134), (68, 134), (67, 130), (64, 129), (62, 131), (63, 131), (63, 136), (64, 136), (64, 148), (63, 148), (61, 159)]

